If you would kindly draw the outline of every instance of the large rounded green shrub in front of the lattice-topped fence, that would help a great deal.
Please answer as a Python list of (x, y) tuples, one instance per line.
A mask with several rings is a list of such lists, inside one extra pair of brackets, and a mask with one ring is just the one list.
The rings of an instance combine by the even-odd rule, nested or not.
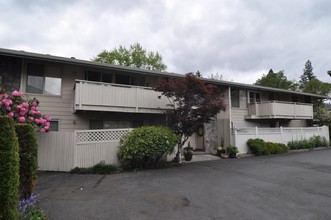
[(174, 152), (178, 137), (166, 127), (135, 128), (120, 141), (118, 159), (126, 168), (148, 168)]

